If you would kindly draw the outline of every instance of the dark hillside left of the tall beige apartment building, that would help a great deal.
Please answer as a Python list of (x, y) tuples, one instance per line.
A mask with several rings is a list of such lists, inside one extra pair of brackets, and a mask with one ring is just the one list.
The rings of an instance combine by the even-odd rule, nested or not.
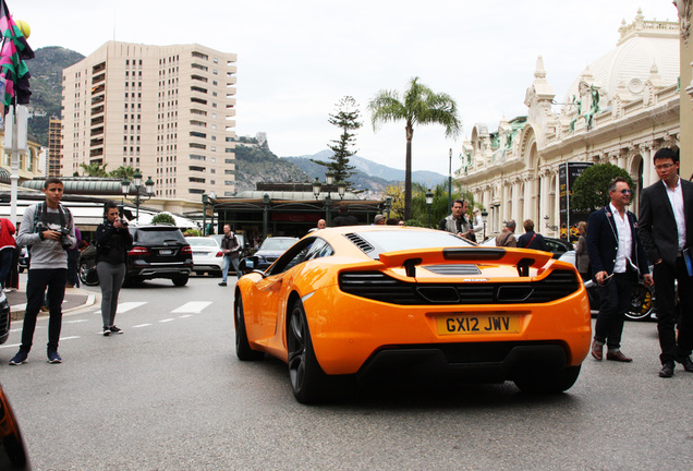
[(26, 61), (32, 74), (29, 109), (33, 116), (28, 120), (28, 133), (39, 144), (47, 146), (48, 120), (52, 116), (60, 118), (62, 70), (80, 62), (84, 56), (59, 46), (36, 49), (34, 55), (34, 59)]

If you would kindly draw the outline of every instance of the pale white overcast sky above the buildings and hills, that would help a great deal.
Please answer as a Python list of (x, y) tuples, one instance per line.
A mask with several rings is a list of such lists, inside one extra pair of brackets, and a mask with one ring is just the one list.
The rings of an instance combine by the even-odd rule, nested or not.
[[(108, 40), (198, 43), (238, 53), (236, 134), (266, 132), (280, 157), (315, 154), (339, 137), (327, 122), (345, 95), (360, 105), (358, 155), (404, 168), (404, 124), (370, 125), (368, 101), (418, 76), (458, 102), (463, 136), (416, 128), (414, 170), (459, 167), (475, 123), (489, 131), (526, 114), (537, 56), (562, 101), (587, 64), (616, 47), (621, 21), (677, 21), (671, 0), (7, 0), (34, 49), (88, 56)], [(27, 64), (31, 70), (31, 62)]]

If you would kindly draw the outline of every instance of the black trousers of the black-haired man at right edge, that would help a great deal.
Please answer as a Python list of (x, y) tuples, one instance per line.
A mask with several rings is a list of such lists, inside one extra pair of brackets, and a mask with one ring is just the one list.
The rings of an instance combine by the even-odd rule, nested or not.
[[(664, 262), (655, 265), (655, 298), (657, 302), (657, 329), (659, 331), (659, 360), (664, 364), (682, 360), (693, 350), (693, 277), (685, 269), (683, 257), (677, 258), (676, 266)], [(674, 326), (677, 292), (679, 283), (679, 336)]]

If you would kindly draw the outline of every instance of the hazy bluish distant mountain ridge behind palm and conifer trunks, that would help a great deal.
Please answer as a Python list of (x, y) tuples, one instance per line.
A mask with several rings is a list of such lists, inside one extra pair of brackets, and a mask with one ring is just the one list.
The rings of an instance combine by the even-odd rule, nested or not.
[[(325, 167), (312, 162), (311, 159), (328, 161), (332, 155), (332, 150), (325, 149), (314, 155), (282, 158), (301, 168), (313, 179), (317, 177), (323, 180), (325, 178)], [(404, 181), (404, 170), (384, 166), (357, 155), (350, 157), (349, 164), (356, 167), (358, 171), (358, 173), (353, 177), (354, 182), (357, 183), (355, 184), (356, 188), (369, 188), (374, 191), (381, 191), (385, 190), (385, 185)], [(437, 184), (446, 182), (447, 179), (448, 178), (443, 174), (428, 170), (414, 170), (412, 172), (412, 182), (421, 183), (426, 188), (435, 188)], [(375, 186), (368, 186), (368, 184)], [(382, 185), (382, 188), (379, 188), (380, 185)]]

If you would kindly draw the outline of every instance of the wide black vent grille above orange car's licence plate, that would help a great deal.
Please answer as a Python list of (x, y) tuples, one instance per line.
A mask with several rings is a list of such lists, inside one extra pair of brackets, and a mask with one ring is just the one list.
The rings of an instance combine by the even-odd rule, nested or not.
[(342, 291), (390, 304), (510, 304), (547, 303), (574, 293), (580, 281), (574, 273), (554, 270), (536, 282), (494, 283), (416, 283), (400, 281), (380, 271), (343, 273)]

